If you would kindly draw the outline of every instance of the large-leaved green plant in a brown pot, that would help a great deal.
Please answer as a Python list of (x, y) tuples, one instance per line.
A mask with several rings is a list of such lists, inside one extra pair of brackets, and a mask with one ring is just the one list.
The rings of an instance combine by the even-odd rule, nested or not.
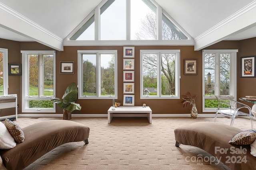
[(63, 119), (70, 120), (71, 113), (74, 110), (81, 110), (80, 104), (75, 103), (77, 100), (78, 90), (76, 83), (71, 83), (65, 90), (62, 100), (59, 98), (51, 98), (60, 108), (63, 108)]

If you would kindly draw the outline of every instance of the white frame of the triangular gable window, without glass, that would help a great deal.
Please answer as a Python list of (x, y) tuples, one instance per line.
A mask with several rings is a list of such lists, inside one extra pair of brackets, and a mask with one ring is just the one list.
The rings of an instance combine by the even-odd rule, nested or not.
[[(130, 38), (130, 8), (131, 1), (126, 0), (126, 40), (100, 40), (100, 8), (108, 0), (103, 0), (65, 39), (64, 46), (74, 45), (194, 45), (194, 39), (180, 27), (154, 0), (149, 0), (157, 8), (157, 39), (156, 40), (131, 40)], [(163, 40), (162, 39), (162, 14), (164, 14), (175, 27), (188, 39), (183, 40)], [(70, 40), (70, 38), (94, 15), (94, 40)]]

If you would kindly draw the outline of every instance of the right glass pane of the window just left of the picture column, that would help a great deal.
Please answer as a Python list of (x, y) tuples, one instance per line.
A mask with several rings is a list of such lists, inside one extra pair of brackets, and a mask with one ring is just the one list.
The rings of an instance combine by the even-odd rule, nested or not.
[(101, 54), (101, 95), (114, 96), (115, 90), (115, 55), (114, 54)]

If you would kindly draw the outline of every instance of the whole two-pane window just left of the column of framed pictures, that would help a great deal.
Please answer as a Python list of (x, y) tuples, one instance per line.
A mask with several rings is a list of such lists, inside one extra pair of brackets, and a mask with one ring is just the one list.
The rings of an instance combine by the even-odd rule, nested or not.
[(117, 98), (117, 51), (78, 51), (78, 98)]

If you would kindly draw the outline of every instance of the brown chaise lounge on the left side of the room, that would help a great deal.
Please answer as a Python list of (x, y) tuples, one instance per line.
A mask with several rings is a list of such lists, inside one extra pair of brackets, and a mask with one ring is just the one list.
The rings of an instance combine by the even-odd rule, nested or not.
[(22, 170), (50, 150), (69, 142), (88, 139), (90, 128), (74, 121), (50, 120), (22, 128), (26, 136), (23, 143), (0, 156), (8, 170)]

